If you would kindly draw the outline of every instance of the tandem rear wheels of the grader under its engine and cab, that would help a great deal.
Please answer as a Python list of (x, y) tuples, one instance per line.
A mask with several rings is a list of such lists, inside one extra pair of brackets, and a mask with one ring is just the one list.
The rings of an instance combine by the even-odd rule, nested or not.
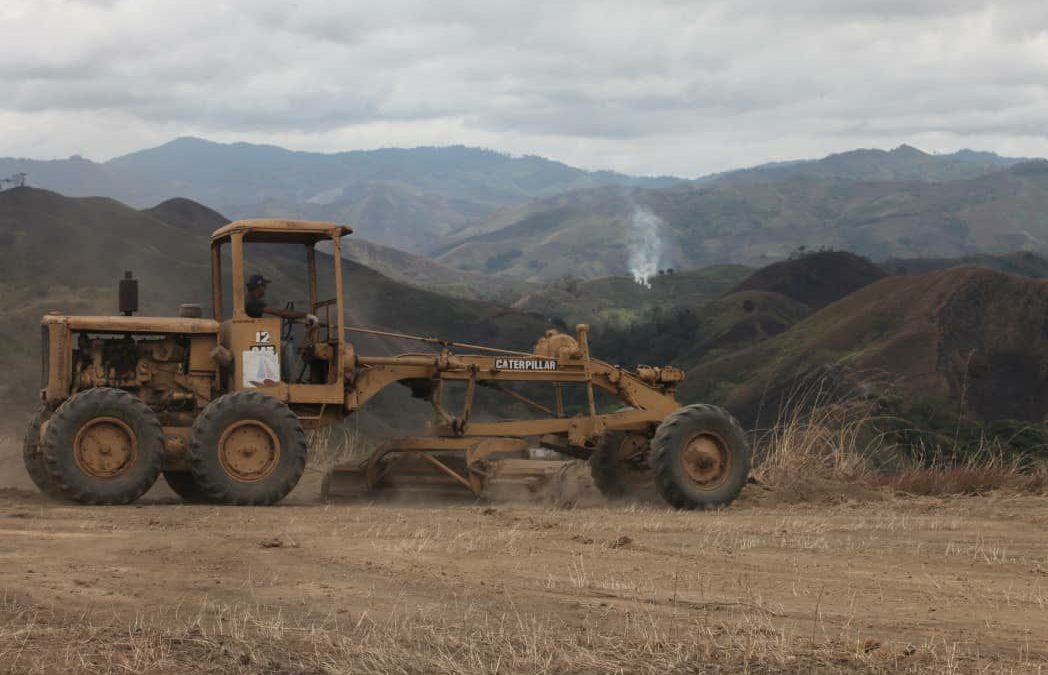
[[(53, 412), (38, 411), (26, 429), (22, 456), (29, 478), (49, 497), (128, 504), (156, 482), (163, 433), (141, 399), (100, 387), (73, 394)], [(194, 423), (190, 463), (190, 472), (165, 472), (183, 500), (271, 504), (302, 477), (305, 433), (294, 413), (275, 398), (227, 394)]]

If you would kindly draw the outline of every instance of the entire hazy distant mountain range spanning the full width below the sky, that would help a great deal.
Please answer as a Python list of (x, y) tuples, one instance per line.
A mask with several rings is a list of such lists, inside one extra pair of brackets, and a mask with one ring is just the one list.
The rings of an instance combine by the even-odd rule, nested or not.
[[(932, 155), (909, 146), (696, 181), (588, 172), (464, 147), (325, 154), (189, 137), (105, 162), (0, 158), (0, 174), (16, 171), (63, 194), (136, 206), (163, 201), (154, 209), (167, 213), (152, 215), (166, 220), (179, 217), (172, 213), (179, 197), (230, 218), (350, 222), (364, 240), (481, 275), (454, 282), (445, 269), (416, 260), (414, 283), (451, 281), (463, 297), (492, 286), (481, 282), (496, 275), (533, 283), (628, 275), (629, 256), (647, 236), (637, 216), (647, 212), (661, 223), (652, 264), (678, 270), (761, 266), (799, 245), (883, 259), (1040, 251), (1048, 241), (1043, 162), (968, 150)], [(374, 251), (356, 253), (387, 273), (398, 269), (397, 261), (381, 265), (385, 257)], [(484, 297), (502, 299), (502, 291)]]

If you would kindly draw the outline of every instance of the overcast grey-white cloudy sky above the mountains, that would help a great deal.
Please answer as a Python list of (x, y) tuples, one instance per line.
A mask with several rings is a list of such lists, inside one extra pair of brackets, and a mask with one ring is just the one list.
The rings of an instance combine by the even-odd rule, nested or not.
[(1048, 155), (1048, 2), (4, 0), (0, 155), (465, 144), (695, 176)]

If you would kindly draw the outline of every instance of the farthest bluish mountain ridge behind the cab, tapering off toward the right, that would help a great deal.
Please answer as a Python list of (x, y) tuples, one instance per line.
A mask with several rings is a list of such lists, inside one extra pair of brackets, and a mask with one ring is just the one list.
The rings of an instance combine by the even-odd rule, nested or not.
[(138, 208), (187, 197), (230, 218), (352, 222), (362, 237), (410, 252), (507, 204), (583, 188), (677, 181), (461, 146), (326, 154), (189, 137), (105, 162), (0, 158), (0, 175), (18, 171), (31, 186)]

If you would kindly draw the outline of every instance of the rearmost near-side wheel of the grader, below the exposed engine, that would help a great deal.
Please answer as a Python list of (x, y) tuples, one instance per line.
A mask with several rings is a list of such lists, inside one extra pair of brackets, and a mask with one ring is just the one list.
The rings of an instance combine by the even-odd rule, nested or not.
[(83, 504), (128, 504), (156, 482), (163, 434), (140, 399), (100, 387), (59, 406), (40, 452), (49, 495)]

